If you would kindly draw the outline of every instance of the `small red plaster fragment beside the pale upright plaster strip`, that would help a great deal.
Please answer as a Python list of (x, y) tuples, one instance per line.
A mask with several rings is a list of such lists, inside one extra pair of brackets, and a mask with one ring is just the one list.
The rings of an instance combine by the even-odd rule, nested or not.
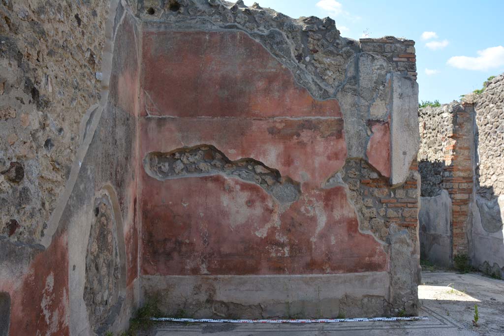
[(390, 124), (388, 121), (369, 120), (371, 138), (367, 144), (367, 160), (383, 176), (390, 177)]

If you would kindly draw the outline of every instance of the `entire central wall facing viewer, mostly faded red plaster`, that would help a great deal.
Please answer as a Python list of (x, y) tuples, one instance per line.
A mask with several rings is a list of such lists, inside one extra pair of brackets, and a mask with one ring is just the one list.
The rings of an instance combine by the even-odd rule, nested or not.
[[(139, 6), (143, 294), (202, 317), (416, 313), (414, 43), (359, 45), (330, 19), (260, 8), (152, 21)], [(200, 24), (214, 10), (239, 25)], [(243, 29), (256, 14), (286, 35)], [(293, 296), (303, 281), (329, 294)]]

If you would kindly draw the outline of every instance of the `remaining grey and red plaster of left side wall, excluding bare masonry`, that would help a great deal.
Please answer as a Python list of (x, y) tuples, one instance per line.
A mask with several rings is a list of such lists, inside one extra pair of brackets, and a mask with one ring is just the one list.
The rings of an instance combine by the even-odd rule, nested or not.
[[(119, 2), (108, 2), (108, 6), (101, 100), (87, 112), (81, 111), (85, 115), (80, 131), (71, 132), (78, 146), (68, 152), (68, 158), (56, 157), (74, 160), (72, 167), (60, 167), (68, 170), (65, 190), (58, 192), (55, 204), (48, 204), (48, 220), (37, 213), (30, 215), (40, 223), (40, 234), (23, 230), (26, 223), (17, 228), (11, 225), (13, 230), (0, 229), (0, 293), (10, 297), (9, 336), (118, 333), (128, 327), (140, 302), (135, 210), (138, 22), (132, 10)], [(57, 22), (61, 24), (59, 19), (53, 23), (58, 27)], [(77, 49), (79, 41), (67, 42)], [(55, 66), (63, 66), (64, 61), (62, 57)], [(88, 97), (85, 91), (79, 96)], [(37, 183), (30, 171), (37, 168), (27, 162), (24, 173), (23, 169), (21, 174), (5, 171), (2, 178), (7, 176), (16, 188), (24, 183), (19, 179)], [(17, 202), (18, 196), (10, 197), (10, 202)], [(97, 231), (106, 235), (96, 238)], [(0, 334), (4, 334), (2, 328)]]

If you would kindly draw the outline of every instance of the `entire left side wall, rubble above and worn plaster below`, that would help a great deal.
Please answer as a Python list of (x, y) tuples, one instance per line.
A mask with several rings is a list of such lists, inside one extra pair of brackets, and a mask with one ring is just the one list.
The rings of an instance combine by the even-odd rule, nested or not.
[[(8, 334), (119, 332), (140, 301), (137, 19), (124, 1), (4, 0), (0, 11), (0, 293), (10, 298)], [(113, 221), (99, 230), (95, 200), (105, 196)], [(95, 239), (112, 226), (115, 239)], [(92, 252), (86, 260), (90, 242), (99, 245), (94, 260)], [(113, 266), (107, 253), (116, 256)], [(110, 292), (99, 297), (89, 282)]]

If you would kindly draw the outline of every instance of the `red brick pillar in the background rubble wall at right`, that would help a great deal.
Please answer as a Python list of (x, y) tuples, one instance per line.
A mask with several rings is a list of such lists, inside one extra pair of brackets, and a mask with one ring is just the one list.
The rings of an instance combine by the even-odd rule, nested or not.
[(452, 257), (468, 254), (467, 228), (469, 203), (473, 190), (473, 113), (472, 105), (464, 104), (453, 115), (452, 140), (445, 149), (443, 186), (452, 198)]

